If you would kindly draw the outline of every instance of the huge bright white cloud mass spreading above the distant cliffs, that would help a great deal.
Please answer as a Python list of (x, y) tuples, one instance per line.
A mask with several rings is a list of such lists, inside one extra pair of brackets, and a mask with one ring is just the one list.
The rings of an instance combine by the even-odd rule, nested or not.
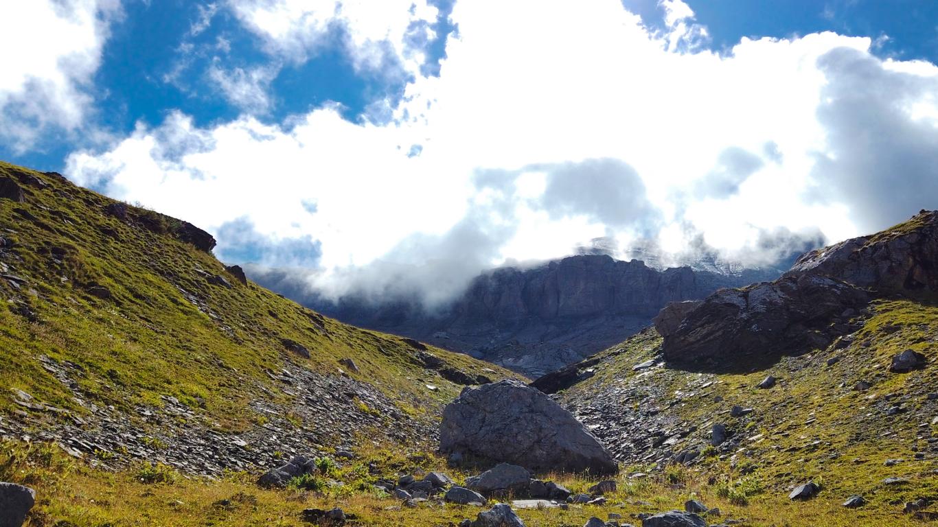
[[(842, 239), (870, 229), (862, 218), (885, 227), (934, 195), (897, 192), (884, 206), (862, 191), (890, 181), (894, 151), (917, 188), (938, 181), (933, 65), (883, 61), (870, 38), (833, 33), (695, 51), (688, 42), (701, 33), (688, 29), (686, 6), (668, 5), (671, 31), (658, 34), (617, 0), (460, 2), (440, 76), (416, 76), (386, 125), (350, 123), (328, 107), (284, 127), (244, 116), (195, 128), (175, 113), (106, 152), (73, 155), (68, 173), (86, 184), (105, 177), (118, 197), (210, 229), (247, 216), (272, 238), (310, 234), (322, 266), (346, 276), (348, 266), (423, 264), (433, 254), (467, 275), (507, 258), (562, 256), (597, 236), (625, 244), (652, 216), (662, 247), (703, 235), (746, 258), (772, 233)], [(310, 52), (337, 20), (361, 42), (398, 42), (405, 22), (423, 16), (298, 6), (235, 8), (284, 53)], [(869, 119), (851, 122), (856, 115)], [(577, 168), (598, 159), (628, 170), (579, 178), (597, 186), (577, 189)], [(556, 167), (572, 167), (560, 187)], [(644, 199), (610, 191), (615, 181)], [(484, 262), (466, 256), (466, 243)], [(440, 268), (426, 275), (428, 294), (439, 293)]]

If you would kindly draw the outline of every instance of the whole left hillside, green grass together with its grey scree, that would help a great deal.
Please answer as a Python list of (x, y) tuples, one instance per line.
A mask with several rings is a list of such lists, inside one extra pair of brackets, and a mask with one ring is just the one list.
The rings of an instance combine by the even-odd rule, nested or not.
[(105, 466), (269, 467), (432, 444), (507, 371), (325, 318), (244, 279), (189, 223), (0, 163), (0, 436)]

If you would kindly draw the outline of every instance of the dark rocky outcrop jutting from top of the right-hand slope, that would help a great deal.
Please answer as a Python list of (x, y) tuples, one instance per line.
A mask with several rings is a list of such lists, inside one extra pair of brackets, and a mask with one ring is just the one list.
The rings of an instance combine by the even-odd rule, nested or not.
[(855, 331), (873, 298), (938, 297), (936, 262), (938, 212), (921, 211), (882, 233), (810, 251), (774, 282), (663, 309), (656, 327), (664, 358), (725, 368), (741, 357), (823, 349)]

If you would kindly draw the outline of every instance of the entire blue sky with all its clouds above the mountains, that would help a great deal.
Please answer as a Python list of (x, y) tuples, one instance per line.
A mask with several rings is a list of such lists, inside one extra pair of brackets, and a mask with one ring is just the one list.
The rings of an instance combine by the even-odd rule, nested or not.
[(602, 238), (748, 265), (938, 205), (938, 3), (0, 4), (0, 158), (428, 306)]

